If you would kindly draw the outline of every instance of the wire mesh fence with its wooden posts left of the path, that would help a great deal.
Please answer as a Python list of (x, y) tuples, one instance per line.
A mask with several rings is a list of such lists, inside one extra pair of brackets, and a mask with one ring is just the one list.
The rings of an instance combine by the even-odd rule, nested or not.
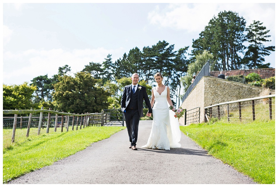
[[(104, 122), (103, 112), (87, 112), (86, 114), (79, 115), (43, 110), (43, 108), (42, 110), (3, 110), (4, 115), (5, 112), (6, 114), (15, 114), (14, 117), (3, 116), (3, 147), (6, 148), (12, 143), (20, 144), (38, 135), (76, 131), (88, 126), (103, 126)], [(29, 117), (18, 117), (18, 113), (26, 114), (27, 112), (30, 112)]]

